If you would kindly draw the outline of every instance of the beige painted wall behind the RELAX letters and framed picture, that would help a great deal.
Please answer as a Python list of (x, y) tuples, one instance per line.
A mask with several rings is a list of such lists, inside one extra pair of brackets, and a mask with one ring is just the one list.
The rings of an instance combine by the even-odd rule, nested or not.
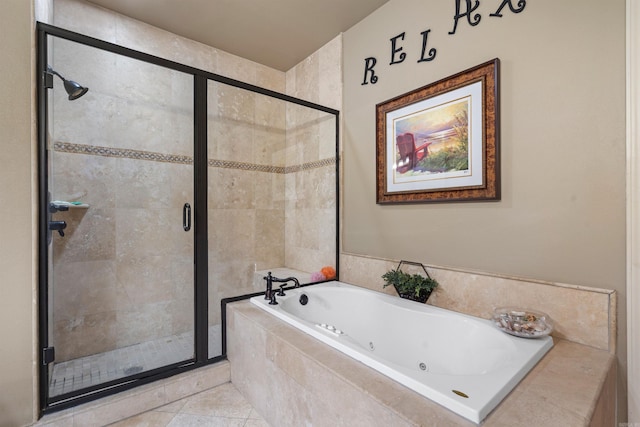
[[(452, 3), (391, 0), (344, 34), (343, 249), (615, 289), (624, 383), (625, 3), (539, 0), (497, 18), (502, 2), (483, 1), (479, 25), (449, 35)], [(437, 56), (417, 63), (427, 29)], [(390, 66), (402, 32), (407, 59)], [(370, 56), (379, 80), (362, 85)], [(495, 57), (502, 200), (376, 205), (375, 105)]]

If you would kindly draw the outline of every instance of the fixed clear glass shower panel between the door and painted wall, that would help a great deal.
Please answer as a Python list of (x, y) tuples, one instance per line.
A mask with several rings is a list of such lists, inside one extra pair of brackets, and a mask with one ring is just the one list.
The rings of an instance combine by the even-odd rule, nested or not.
[(209, 83), (210, 325), (220, 321), (220, 299), (263, 289), (256, 270), (335, 264), (335, 123)]

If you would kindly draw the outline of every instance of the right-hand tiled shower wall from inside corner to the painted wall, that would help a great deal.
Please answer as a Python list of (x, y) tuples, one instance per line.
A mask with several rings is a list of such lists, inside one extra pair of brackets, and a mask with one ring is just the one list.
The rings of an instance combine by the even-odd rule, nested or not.
[[(338, 36), (286, 73), (286, 92), (340, 111), (342, 108), (342, 36)], [(336, 124), (326, 114), (287, 106), (287, 164), (324, 167), (286, 175), (285, 264), (314, 272), (335, 267)], [(339, 145), (339, 142), (338, 142)], [(328, 166), (327, 166), (328, 165)]]

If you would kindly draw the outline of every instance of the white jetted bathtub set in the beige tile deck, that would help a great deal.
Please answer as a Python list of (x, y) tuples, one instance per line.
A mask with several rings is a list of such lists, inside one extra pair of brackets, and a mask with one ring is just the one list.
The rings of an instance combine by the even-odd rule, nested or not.
[[(306, 305), (300, 303), (306, 295)], [(480, 423), (553, 346), (491, 321), (342, 282), (253, 304), (451, 411)]]

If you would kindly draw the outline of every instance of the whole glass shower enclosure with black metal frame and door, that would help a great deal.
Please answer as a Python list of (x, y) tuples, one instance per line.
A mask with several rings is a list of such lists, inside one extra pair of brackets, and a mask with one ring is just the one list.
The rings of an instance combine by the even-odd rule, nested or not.
[(38, 36), (43, 411), (223, 360), (225, 299), (338, 270), (337, 111)]

